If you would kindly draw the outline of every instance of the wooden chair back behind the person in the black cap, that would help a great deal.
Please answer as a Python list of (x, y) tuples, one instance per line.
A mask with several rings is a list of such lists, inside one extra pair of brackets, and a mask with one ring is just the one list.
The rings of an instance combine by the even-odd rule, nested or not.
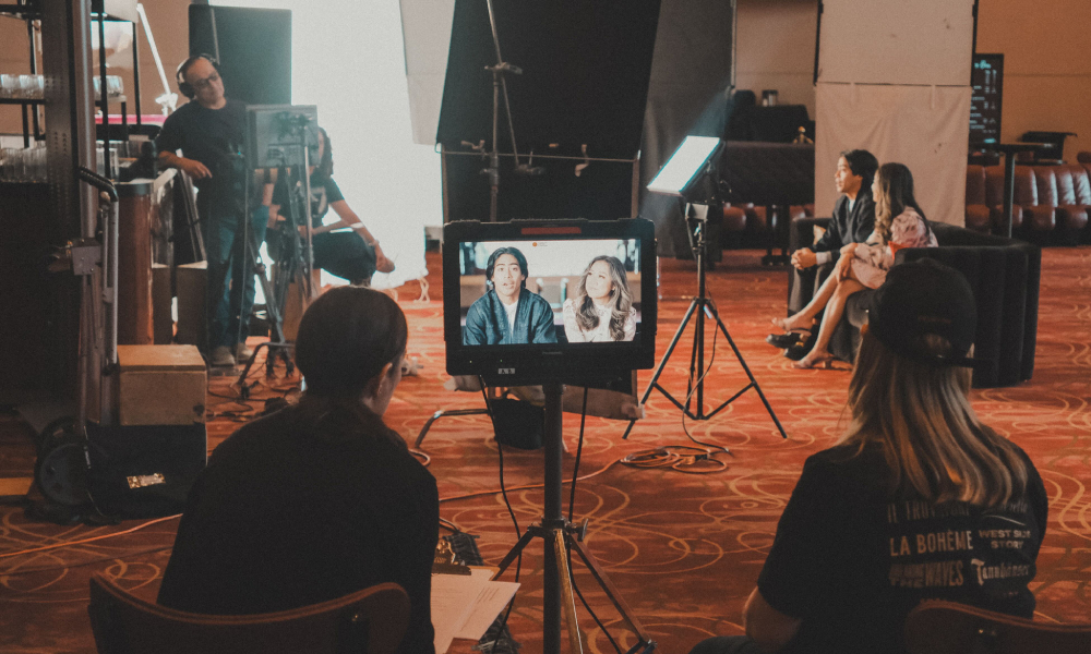
[(906, 618), (910, 654), (1083, 654), (1091, 623), (1036, 622), (955, 602), (922, 602)]

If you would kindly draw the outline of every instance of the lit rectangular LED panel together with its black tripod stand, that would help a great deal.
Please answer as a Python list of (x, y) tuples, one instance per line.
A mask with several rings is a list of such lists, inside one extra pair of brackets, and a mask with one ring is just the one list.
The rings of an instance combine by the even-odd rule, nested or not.
[[(700, 216), (698, 211), (696, 211), (694, 205), (704, 205), (707, 211), (716, 210), (721, 206), (718, 195), (719, 183), (716, 179), (716, 166), (712, 164), (715, 155), (719, 152), (719, 149), (718, 138), (687, 136), (686, 141), (683, 142), (682, 146), (679, 147), (678, 152), (672, 155), (671, 159), (663, 167), (663, 170), (660, 171), (660, 173), (656, 175), (656, 179), (648, 184), (648, 190), (654, 193), (678, 195), (679, 197), (684, 198), (690, 195), (693, 190), (705, 189), (706, 195), (702, 198), (703, 202), (690, 203), (686, 206), (686, 234), (690, 238), (690, 246), (693, 249), (694, 259), (697, 262), (697, 295), (690, 303), (690, 308), (686, 311), (685, 317), (682, 318), (682, 324), (679, 325), (678, 331), (674, 332), (674, 338), (671, 340), (671, 344), (667, 348), (667, 353), (663, 354), (663, 359), (656, 367), (656, 373), (652, 375), (651, 382), (648, 384), (648, 388), (644, 391), (644, 396), (640, 398), (640, 404), (648, 401), (652, 389), (658, 389), (690, 419), (709, 420), (722, 411), (728, 404), (739, 399), (739, 397), (741, 397), (744, 392), (753, 388), (757, 391), (758, 397), (762, 399), (762, 403), (765, 404), (765, 409), (769, 412), (769, 416), (777, 425), (777, 429), (780, 432), (780, 435), (783, 438), (788, 438), (788, 434), (784, 433), (784, 427), (781, 426), (780, 421), (777, 419), (777, 414), (772, 411), (772, 407), (769, 405), (769, 400), (767, 400), (765, 393), (762, 392), (762, 387), (758, 385), (757, 379), (754, 378), (754, 374), (751, 372), (750, 366), (746, 365), (746, 361), (743, 360), (743, 355), (735, 346), (734, 339), (731, 338), (731, 335), (728, 332), (728, 328), (723, 325), (723, 320), (720, 319), (719, 312), (716, 311), (716, 305), (712, 303), (711, 299), (708, 298), (706, 292), (708, 242), (705, 235), (707, 231), (706, 227), (708, 225), (707, 213), (705, 216)], [(694, 161), (698, 161), (698, 164), (694, 166)], [(674, 164), (674, 166), (672, 166), (672, 164)], [(667, 368), (667, 363), (670, 361), (671, 354), (674, 353), (674, 348), (679, 344), (679, 341), (682, 339), (682, 335), (690, 325), (690, 320), (695, 315), (696, 322), (694, 323), (693, 351), (690, 355), (690, 377), (686, 383), (686, 397), (685, 403), (683, 404), (670, 392), (668, 392), (666, 388), (659, 385), (659, 377)], [(722, 334), (728, 340), (728, 343), (731, 346), (731, 350), (735, 354), (735, 359), (739, 360), (739, 364), (742, 366), (743, 371), (746, 373), (746, 377), (750, 379), (750, 384), (744, 386), (735, 395), (728, 398), (723, 403), (709, 413), (705, 413), (704, 402), (706, 317), (710, 320), (716, 320), (716, 329), (719, 329), (719, 332)], [(696, 412), (691, 409), (694, 396), (696, 396)], [(632, 432), (634, 424), (636, 424), (636, 420), (631, 420), (628, 422), (628, 426), (625, 428), (625, 434), (622, 438), (628, 438), (628, 434)]]

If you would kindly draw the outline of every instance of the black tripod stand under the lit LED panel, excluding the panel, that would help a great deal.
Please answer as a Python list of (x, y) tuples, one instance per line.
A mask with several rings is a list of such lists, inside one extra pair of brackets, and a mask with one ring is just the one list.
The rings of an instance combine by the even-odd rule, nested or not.
[[(718, 203), (709, 205), (709, 210), (711, 207), (719, 206)], [(692, 209), (693, 205), (690, 205), (687, 209)], [(693, 249), (693, 256), (697, 261), (697, 296), (693, 299), (690, 303), (690, 308), (685, 312), (685, 317), (682, 318), (682, 324), (679, 325), (678, 331), (674, 332), (674, 338), (671, 340), (670, 347), (667, 348), (667, 353), (663, 354), (663, 359), (659, 362), (656, 367), (656, 373), (651, 377), (651, 383), (648, 384), (648, 388), (644, 391), (644, 396), (640, 398), (640, 403), (644, 404), (648, 401), (654, 389), (659, 390), (663, 396), (670, 400), (675, 407), (682, 410), (682, 412), (692, 420), (709, 420), (728, 404), (735, 401), (744, 392), (750, 389), (757, 391), (757, 396), (762, 398), (762, 403), (765, 404), (765, 410), (769, 412), (769, 417), (777, 425), (777, 429), (783, 438), (788, 438), (788, 434), (784, 433), (784, 427), (781, 426), (780, 421), (777, 419), (777, 414), (774, 413), (772, 407), (769, 405), (769, 400), (765, 398), (765, 393), (762, 392), (762, 387), (758, 386), (757, 379), (754, 378), (754, 374), (751, 372), (750, 366), (743, 360), (742, 353), (735, 346), (734, 339), (728, 332), (728, 328), (723, 325), (723, 320), (720, 319), (719, 312), (716, 311), (716, 304), (712, 303), (711, 299), (708, 298), (706, 293), (706, 274), (707, 274), (707, 261), (706, 254), (708, 249), (708, 242), (705, 239), (705, 227), (707, 225), (707, 218), (702, 218), (697, 216), (691, 216), (691, 210), (686, 211), (686, 235), (690, 238), (690, 246)], [(694, 335), (693, 335), (693, 351), (690, 354), (690, 377), (686, 383), (686, 396), (685, 403), (683, 404), (678, 399), (674, 398), (666, 388), (660, 386), (659, 376), (663, 374), (667, 368), (667, 363), (671, 359), (671, 354), (674, 353), (674, 348), (678, 347), (679, 341), (682, 339), (682, 335), (685, 332), (686, 327), (690, 325), (690, 320), (696, 316), (694, 322)], [(705, 413), (705, 319), (715, 320), (716, 326), (714, 329), (719, 329), (719, 332), (723, 335), (723, 338), (728, 339), (728, 344), (731, 346), (731, 350), (735, 353), (735, 359), (739, 360), (739, 365), (743, 367), (746, 373), (746, 377), (750, 379), (750, 384), (744, 386), (739, 392), (731, 396), (723, 401), (719, 407), (714, 409), (709, 413)], [(696, 399), (696, 411), (691, 409), (693, 400)], [(633, 425), (636, 424), (636, 420), (631, 420), (628, 426), (625, 428), (625, 434), (622, 438), (628, 438), (630, 432), (633, 431)], [(724, 448), (727, 449), (727, 448)]]

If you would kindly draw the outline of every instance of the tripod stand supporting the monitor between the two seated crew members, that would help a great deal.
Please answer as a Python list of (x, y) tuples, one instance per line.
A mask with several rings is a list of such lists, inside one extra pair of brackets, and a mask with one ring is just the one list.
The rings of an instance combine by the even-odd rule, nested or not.
[[(531, 538), (541, 538), (544, 546), (544, 571), (542, 580), (542, 651), (546, 654), (558, 654), (561, 651), (561, 613), (568, 631), (570, 651), (582, 653), (586, 651), (584, 637), (576, 621), (576, 603), (573, 595), (573, 578), (570, 561), (572, 552), (579, 555), (584, 565), (595, 577), (595, 581), (610, 598), (610, 602), (621, 614), (626, 626), (636, 633), (639, 642), (630, 652), (650, 653), (656, 649), (640, 621), (633, 616), (632, 609), (618, 592), (590, 552), (584, 547), (583, 538), (587, 532), (587, 521), (579, 526), (570, 523), (561, 511), (562, 465), (561, 465), (561, 397), (564, 386), (560, 383), (542, 385), (546, 392), (546, 429), (543, 434), (546, 457), (546, 501), (544, 513), (540, 521), (527, 528), (515, 547), (500, 562), (496, 577), (515, 561)], [(573, 481), (575, 483), (575, 481)]]

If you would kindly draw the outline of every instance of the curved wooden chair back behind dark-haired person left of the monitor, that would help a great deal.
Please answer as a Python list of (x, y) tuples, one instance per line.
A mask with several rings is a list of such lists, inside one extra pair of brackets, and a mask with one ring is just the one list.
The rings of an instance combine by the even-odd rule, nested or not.
[(392, 654), (409, 621), (396, 583), (269, 614), (212, 616), (176, 610), (91, 578), (87, 606), (99, 654)]

